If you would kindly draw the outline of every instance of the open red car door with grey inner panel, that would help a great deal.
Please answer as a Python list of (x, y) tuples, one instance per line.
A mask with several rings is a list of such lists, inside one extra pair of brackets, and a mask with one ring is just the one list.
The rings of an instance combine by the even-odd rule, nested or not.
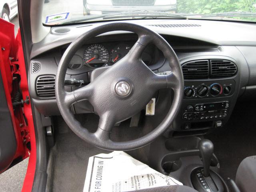
[(14, 24), (0, 18), (0, 173), (29, 156), (30, 136), (24, 107)]

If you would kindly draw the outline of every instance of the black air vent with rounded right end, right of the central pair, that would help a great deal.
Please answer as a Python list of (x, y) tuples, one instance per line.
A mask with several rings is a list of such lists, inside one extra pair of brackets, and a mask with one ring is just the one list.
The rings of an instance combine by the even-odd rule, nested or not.
[(224, 78), (234, 76), (237, 66), (229, 60), (210, 60), (212, 78)]

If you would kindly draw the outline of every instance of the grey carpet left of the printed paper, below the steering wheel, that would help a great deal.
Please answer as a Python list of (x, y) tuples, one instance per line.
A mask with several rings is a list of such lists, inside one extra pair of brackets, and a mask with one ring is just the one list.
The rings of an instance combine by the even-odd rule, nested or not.
[[(110, 151), (96, 148), (76, 136), (62, 118), (56, 120), (56, 144), (51, 149), (47, 191), (83, 191), (88, 158)], [(92, 125), (88, 125), (93, 127)], [(50, 177), (50, 178), (49, 178)], [(49, 183), (51, 182), (51, 183)]]

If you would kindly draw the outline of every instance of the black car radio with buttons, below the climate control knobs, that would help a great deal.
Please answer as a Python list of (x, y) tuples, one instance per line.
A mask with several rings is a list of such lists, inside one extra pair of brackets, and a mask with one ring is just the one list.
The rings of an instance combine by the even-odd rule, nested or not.
[(182, 119), (190, 121), (223, 118), (227, 116), (229, 105), (229, 101), (189, 104)]

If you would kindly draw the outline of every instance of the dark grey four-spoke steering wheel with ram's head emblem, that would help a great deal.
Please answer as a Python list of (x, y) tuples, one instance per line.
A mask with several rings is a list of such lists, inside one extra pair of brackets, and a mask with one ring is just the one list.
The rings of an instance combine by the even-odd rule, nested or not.
[[(84, 43), (100, 34), (111, 31), (130, 31), (138, 40), (128, 54), (109, 67), (87, 86), (66, 92), (64, 80), (68, 64)], [(170, 74), (158, 75), (142, 61), (141, 55), (148, 44), (154, 44), (164, 54), (171, 67)], [(126, 22), (113, 22), (98, 26), (80, 35), (64, 52), (56, 74), (56, 101), (62, 117), (70, 129), (84, 141), (106, 150), (132, 150), (145, 146), (160, 136), (173, 122), (183, 97), (183, 74), (180, 62), (171, 46), (156, 32)], [(162, 88), (172, 88), (173, 102), (164, 120), (150, 133), (126, 142), (110, 139), (112, 127), (145, 108), (153, 94)], [(100, 116), (96, 132), (84, 128), (70, 110), (76, 102), (88, 100)]]

